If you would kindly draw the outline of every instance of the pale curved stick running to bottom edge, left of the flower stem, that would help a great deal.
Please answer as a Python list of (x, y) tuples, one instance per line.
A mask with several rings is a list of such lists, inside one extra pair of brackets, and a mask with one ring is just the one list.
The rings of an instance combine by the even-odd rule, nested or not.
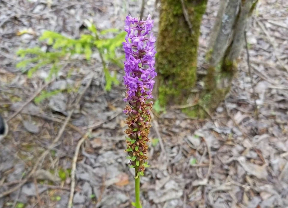
[(88, 135), (89, 135), (89, 133), (86, 133), (86, 134), (82, 137), (82, 139), (79, 140), (79, 142), (77, 143), (76, 149), (75, 149), (75, 153), (74, 153), (74, 157), (73, 157), (73, 162), (72, 162), (72, 169), (71, 169), (70, 197), (69, 197), (69, 201), (68, 201), (67, 208), (71, 208), (71, 207), (72, 207), (73, 196), (74, 196), (74, 191), (75, 191), (76, 162), (77, 162), (77, 158), (78, 158), (78, 154), (79, 154), (79, 149), (80, 149), (82, 143), (85, 141), (85, 139), (87, 139)]

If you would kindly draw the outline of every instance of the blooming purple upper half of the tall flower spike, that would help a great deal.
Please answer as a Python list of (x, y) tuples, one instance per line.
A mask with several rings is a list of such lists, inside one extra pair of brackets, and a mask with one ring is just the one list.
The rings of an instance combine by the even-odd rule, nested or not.
[(155, 54), (154, 43), (156, 38), (151, 32), (154, 20), (148, 15), (146, 21), (138, 20), (130, 15), (125, 20), (125, 31), (127, 35), (123, 42), (126, 61), (124, 84), (127, 94), (125, 101), (135, 102), (134, 96), (138, 99), (147, 96), (147, 99), (153, 98), (153, 79), (157, 75), (155, 72)]

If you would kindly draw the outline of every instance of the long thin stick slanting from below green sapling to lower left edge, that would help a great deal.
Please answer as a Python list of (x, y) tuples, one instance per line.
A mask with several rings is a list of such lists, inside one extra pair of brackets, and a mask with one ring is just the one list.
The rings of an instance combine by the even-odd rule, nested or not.
[[(93, 78), (93, 77), (92, 77)], [(85, 87), (85, 89), (83, 90), (83, 92), (79, 95), (79, 98), (77, 99), (76, 103), (75, 103), (75, 106), (77, 106), (82, 98), (82, 96), (84, 95), (85, 91), (88, 89), (88, 87), (90, 86), (91, 84), (91, 81), (92, 81), (92, 78), (91, 80), (88, 82), (87, 86)], [(3, 193), (0, 194), (0, 198), (1, 197), (4, 197), (4, 196), (7, 196), (8, 194), (11, 194), (13, 193), (14, 191), (18, 190), (19, 188), (22, 187), (22, 185), (24, 185), (36, 172), (37, 168), (38, 168), (38, 165), (40, 164), (40, 162), (47, 156), (47, 154), (49, 154), (49, 152), (52, 150), (52, 148), (56, 145), (56, 143), (60, 140), (62, 134), (64, 133), (64, 130), (67, 126), (67, 124), (69, 123), (71, 117), (72, 117), (72, 114), (74, 112), (75, 109), (72, 109), (68, 112), (68, 117), (66, 118), (64, 124), (62, 125), (61, 129), (59, 130), (58, 132), (58, 135), (56, 136), (56, 138), (53, 140), (52, 144), (49, 145), (48, 149), (46, 151), (44, 151), (41, 156), (38, 158), (38, 160), (36, 161), (35, 165), (33, 166), (32, 170), (30, 171), (30, 173), (26, 176), (26, 178), (24, 180), (22, 180), (17, 186), (7, 190), (7, 191), (4, 191)]]

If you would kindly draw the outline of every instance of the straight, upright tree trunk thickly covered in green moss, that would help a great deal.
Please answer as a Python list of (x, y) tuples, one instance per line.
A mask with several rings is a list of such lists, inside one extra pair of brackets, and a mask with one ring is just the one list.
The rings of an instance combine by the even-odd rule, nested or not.
[[(157, 42), (158, 99), (161, 105), (185, 104), (196, 83), (197, 47), (207, 0), (161, 0)], [(192, 32), (191, 32), (192, 30)]]

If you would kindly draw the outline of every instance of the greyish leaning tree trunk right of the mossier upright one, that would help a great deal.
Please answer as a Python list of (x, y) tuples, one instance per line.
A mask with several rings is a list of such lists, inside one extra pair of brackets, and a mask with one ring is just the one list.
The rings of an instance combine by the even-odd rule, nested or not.
[[(202, 92), (202, 107), (213, 112), (230, 90), (237, 71), (237, 59), (244, 45), (244, 31), (258, 0), (222, 0), (224, 10), (219, 12), (212, 31), (209, 63)], [(215, 35), (217, 34), (217, 35)], [(213, 37), (214, 35), (214, 37)]]

